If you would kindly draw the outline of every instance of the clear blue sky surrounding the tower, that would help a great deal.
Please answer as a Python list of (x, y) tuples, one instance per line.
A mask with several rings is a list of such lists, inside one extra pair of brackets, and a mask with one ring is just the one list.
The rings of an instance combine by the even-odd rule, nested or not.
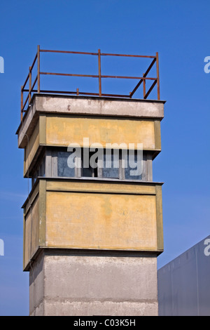
[[(1, 0), (0, 239), (5, 255), (0, 256), (0, 315), (29, 314), (20, 209), (27, 179), (22, 178), (23, 150), (18, 150), (15, 131), (20, 86), (38, 44), (66, 51), (159, 52), (160, 97), (167, 103), (162, 152), (153, 162), (153, 180), (165, 182), (165, 252), (158, 257), (158, 268), (209, 235), (210, 74), (204, 72), (204, 58), (210, 55), (209, 11), (208, 0)], [(118, 70), (115, 62), (106, 68), (111, 74)]]

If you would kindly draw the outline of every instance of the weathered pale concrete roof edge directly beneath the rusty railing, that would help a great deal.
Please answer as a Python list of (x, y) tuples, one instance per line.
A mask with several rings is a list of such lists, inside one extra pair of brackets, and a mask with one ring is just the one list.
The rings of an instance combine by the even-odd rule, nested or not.
[(162, 119), (164, 117), (165, 101), (157, 100), (125, 100), (123, 98), (91, 98), (68, 95), (34, 94), (31, 106), (20, 124), (18, 147), (27, 145), (28, 136), (34, 131), (40, 113), (50, 114), (85, 114), (114, 117), (136, 117)]

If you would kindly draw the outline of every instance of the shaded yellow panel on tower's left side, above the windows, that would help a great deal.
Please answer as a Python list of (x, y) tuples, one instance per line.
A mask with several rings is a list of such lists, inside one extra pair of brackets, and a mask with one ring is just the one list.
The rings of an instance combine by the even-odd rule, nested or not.
[(31, 138), (29, 138), (29, 143), (25, 147), (25, 164), (24, 164), (24, 175), (27, 173), (27, 170), (31, 164), (31, 161), (36, 154), (39, 146), (39, 125), (36, 124), (33, 134)]

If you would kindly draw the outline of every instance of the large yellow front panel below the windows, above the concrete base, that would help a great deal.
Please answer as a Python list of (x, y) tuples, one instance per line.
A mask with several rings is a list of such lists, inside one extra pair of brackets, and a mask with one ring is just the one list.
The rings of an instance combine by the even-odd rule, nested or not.
[(46, 246), (155, 251), (155, 195), (47, 192)]

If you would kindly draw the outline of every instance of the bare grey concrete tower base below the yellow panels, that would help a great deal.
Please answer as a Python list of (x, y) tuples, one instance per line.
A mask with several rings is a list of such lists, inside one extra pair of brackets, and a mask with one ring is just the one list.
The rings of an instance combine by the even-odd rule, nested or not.
[(44, 249), (29, 279), (30, 315), (158, 315), (152, 253)]

